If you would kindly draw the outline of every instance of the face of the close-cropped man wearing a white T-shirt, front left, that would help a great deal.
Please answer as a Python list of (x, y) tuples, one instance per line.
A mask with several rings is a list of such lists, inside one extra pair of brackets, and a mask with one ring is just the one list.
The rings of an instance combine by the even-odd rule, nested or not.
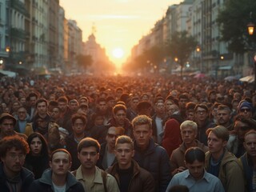
[(50, 161), (50, 168), (55, 175), (66, 175), (70, 167), (71, 162), (69, 154), (62, 151), (56, 152)]

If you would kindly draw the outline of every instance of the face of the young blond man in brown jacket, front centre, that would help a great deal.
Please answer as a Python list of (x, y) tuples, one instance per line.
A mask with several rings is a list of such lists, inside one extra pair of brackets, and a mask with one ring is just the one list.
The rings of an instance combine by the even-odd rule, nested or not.
[(134, 150), (129, 143), (119, 143), (115, 146), (115, 157), (118, 160), (118, 166), (122, 169), (128, 169), (131, 164), (131, 160), (134, 157)]

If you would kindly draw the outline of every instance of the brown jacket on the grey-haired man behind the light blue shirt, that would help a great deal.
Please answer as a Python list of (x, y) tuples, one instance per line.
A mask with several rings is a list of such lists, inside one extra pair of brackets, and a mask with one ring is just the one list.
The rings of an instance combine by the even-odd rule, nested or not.
[[(198, 140), (195, 140), (195, 142), (197, 143), (196, 146), (201, 148), (205, 153), (206, 151), (208, 151), (208, 146), (205, 146), (202, 142), (199, 142)], [(186, 146), (184, 142), (182, 142), (182, 145), (179, 146), (176, 150), (174, 150), (173, 153), (170, 155), (170, 171), (172, 175), (177, 174), (178, 167), (186, 167), (184, 162), (184, 154), (186, 150)]]

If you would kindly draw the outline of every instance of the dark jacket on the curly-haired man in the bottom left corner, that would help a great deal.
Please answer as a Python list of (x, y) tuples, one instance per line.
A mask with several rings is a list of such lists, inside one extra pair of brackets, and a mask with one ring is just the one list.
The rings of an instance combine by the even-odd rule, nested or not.
[[(21, 178), (22, 178), (22, 189), (21, 191), (28, 191), (30, 184), (34, 181), (34, 174), (22, 167), (21, 170)], [(1, 192), (10, 192), (9, 187), (6, 185), (6, 174), (3, 171), (3, 164), (0, 163), (0, 191)]]

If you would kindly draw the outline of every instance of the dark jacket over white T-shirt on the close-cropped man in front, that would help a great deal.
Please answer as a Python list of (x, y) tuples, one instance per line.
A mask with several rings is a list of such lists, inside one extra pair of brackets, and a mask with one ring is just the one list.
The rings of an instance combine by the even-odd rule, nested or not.
[[(30, 189), (26, 190), (28, 192), (54, 192), (54, 185), (51, 179), (52, 171), (46, 170), (42, 174), (42, 178), (39, 178), (32, 182)], [(66, 176), (66, 192), (84, 192), (83, 186), (80, 182), (76, 180), (73, 174), (68, 172)]]

